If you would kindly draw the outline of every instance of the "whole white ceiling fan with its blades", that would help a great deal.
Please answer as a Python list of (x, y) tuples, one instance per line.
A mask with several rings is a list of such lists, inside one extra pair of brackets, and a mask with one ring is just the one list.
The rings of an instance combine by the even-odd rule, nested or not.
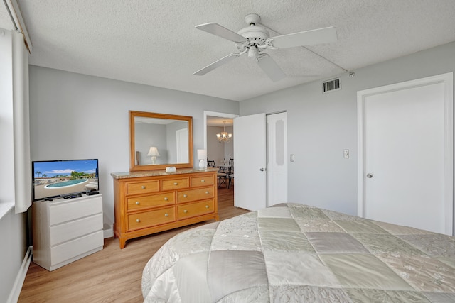
[(319, 43), (332, 43), (336, 41), (336, 29), (333, 26), (327, 28), (318, 28), (311, 31), (301, 31), (299, 33), (289, 33), (287, 35), (277, 35), (270, 37), (266, 28), (258, 26), (261, 17), (251, 13), (245, 17), (246, 28), (242, 28), (235, 33), (228, 28), (220, 26), (218, 23), (204, 23), (196, 26), (201, 31), (218, 35), (235, 42), (238, 52), (231, 53), (193, 75), (205, 75), (215, 68), (228, 63), (240, 55), (247, 54), (248, 57), (255, 59), (257, 65), (272, 79), (277, 82), (286, 75), (277, 63), (264, 50), (274, 50), (278, 48), (293, 48), (295, 46), (314, 45)]

